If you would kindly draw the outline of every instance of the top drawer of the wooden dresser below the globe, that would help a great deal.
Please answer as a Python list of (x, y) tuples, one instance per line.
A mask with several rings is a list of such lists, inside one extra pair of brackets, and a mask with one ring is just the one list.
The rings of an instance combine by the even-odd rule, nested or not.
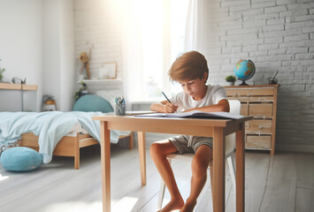
[(254, 95), (273, 95), (273, 88), (238, 88), (227, 89), (226, 96), (254, 96)]

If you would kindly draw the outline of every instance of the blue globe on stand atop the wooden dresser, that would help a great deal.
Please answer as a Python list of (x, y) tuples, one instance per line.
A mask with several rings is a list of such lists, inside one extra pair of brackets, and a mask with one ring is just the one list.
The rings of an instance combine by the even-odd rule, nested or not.
[(251, 79), (255, 74), (255, 64), (251, 60), (240, 60), (235, 64), (234, 74), (242, 80), (240, 86), (248, 86), (245, 80)]

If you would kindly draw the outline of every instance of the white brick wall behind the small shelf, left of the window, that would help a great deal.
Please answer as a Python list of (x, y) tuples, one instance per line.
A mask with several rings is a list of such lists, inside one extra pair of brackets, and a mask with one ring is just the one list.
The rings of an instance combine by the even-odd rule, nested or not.
[[(89, 53), (90, 50), (91, 79), (98, 77), (103, 63), (113, 62), (117, 63), (117, 78), (122, 79), (121, 29), (112, 1), (76, 0), (74, 10), (76, 72), (80, 72), (80, 52)], [(103, 94), (99, 92), (102, 90), (116, 90), (122, 94), (122, 83), (88, 84), (90, 94)]]

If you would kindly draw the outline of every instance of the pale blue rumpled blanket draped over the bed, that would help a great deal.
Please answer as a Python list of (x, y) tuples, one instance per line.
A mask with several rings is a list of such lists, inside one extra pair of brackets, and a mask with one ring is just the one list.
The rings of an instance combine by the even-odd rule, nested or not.
[[(57, 142), (74, 125), (80, 123), (88, 134), (100, 142), (100, 123), (91, 117), (101, 116), (101, 112), (0, 112), (0, 148), (16, 142), (24, 133), (34, 133), (39, 136), (39, 153), (42, 163), (50, 163)], [(117, 143), (119, 134), (129, 132), (111, 131), (111, 143)]]

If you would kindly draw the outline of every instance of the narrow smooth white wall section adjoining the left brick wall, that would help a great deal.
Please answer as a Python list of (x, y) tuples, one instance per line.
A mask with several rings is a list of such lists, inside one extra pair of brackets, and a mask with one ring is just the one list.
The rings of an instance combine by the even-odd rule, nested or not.
[(72, 110), (75, 82), (73, 1), (43, 1), (42, 21), (42, 93), (54, 96), (57, 110)]

